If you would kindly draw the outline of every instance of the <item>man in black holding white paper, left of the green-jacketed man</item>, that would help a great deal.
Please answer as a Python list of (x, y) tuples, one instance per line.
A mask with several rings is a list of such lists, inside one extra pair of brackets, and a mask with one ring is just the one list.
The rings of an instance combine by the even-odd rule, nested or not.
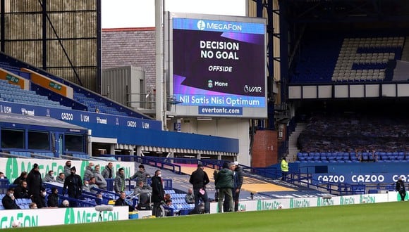
[(210, 202), (207, 197), (206, 185), (209, 183), (209, 176), (203, 171), (204, 167), (200, 163), (195, 172), (190, 175), (189, 183), (193, 185), (193, 195), (195, 195), (195, 212), (199, 212), (199, 200), (204, 203), (204, 213), (210, 213)]

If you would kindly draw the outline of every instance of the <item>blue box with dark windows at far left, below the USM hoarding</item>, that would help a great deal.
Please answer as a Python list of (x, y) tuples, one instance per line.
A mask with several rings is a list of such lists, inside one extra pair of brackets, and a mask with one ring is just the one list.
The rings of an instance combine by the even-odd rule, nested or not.
[[(87, 152), (88, 130), (51, 117), (0, 113), (0, 149), (59, 157)], [(16, 153), (23, 152), (23, 153)]]

